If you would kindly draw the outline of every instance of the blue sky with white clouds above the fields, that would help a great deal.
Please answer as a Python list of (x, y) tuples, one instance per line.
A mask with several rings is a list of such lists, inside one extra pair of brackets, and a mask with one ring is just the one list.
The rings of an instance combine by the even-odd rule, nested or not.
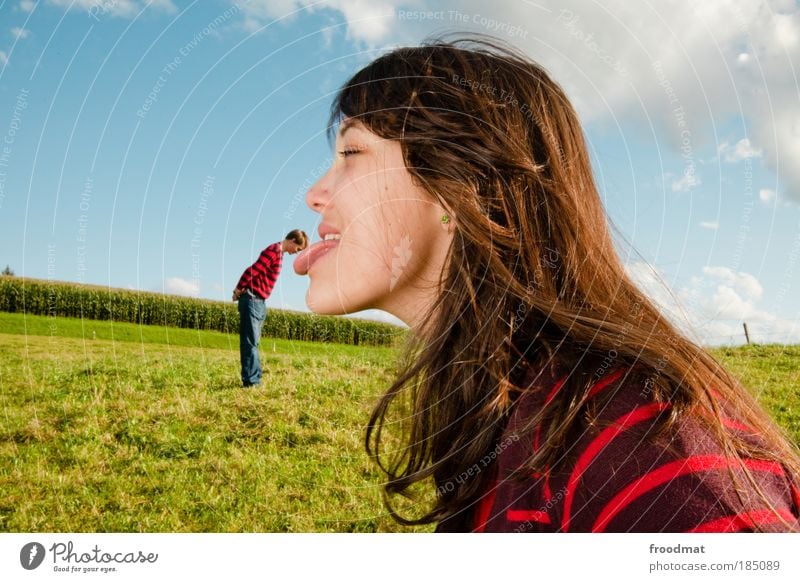
[[(626, 268), (682, 329), (800, 342), (796, 0), (0, 0), (0, 267), (228, 300), (262, 248), (317, 240), (336, 90), (452, 32), (564, 88)], [(307, 311), (284, 260), (268, 306)]]

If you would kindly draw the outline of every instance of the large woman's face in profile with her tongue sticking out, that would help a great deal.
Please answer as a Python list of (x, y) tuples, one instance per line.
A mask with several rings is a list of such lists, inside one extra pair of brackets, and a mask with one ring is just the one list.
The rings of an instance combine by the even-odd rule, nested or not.
[(295, 259), (311, 282), (306, 303), (339, 315), (388, 311), (415, 327), (438, 294), (452, 239), (442, 207), (413, 181), (400, 144), (342, 122), (328, 172), (306, 194), (320, 214), (317, 242)]

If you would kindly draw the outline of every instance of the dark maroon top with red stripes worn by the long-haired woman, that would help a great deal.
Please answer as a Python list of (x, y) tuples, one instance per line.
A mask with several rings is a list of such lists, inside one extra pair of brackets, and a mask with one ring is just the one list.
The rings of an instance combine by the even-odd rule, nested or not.
[[(800, 531), (798, 491), (781, 464), (744, 459), (776, 515), (697, 419), (683, 418), (651, 438), (669, 405), (654, 402), (644, 379), (625, 370), (603, 375), (589, 390), (590, 398), (607, 398), (594, 403), (595, 422), (573, 431), (556, 470), (512, 477), (543, 436), (542, 427), (526, 433), (522, 427), (563, 380), (535, 382), (519, 398), (501, 437), (510, 444), (495, 461), (489, 491), (468, 515), (440, 523), (437, 531)], [(746, 440), (758, 438), (736, 419), (726, 426)], [(741, 500), (731, 470), (740, 477)]]

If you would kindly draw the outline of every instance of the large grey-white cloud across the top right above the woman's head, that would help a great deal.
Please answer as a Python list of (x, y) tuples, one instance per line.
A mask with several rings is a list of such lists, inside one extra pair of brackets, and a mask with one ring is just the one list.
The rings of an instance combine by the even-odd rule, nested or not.
[[(264, 24), (310, 3), (252, 0), (243, 11), (251, 23)], [(315, 6), (339, 11), (348, 36), (368, 44), (415, 43), (453, 28), (497, 36), (550, 71), (584, 121), (616, 128), (625, 118), (647, 132), (652, 126), (675, 151), (689, 140), (698, 159), (703, 148), (714, 147), (715, 128), (738, 123), (750, 141), (735, 144), (730, 156), (760, 155), (769, 169), (779, 171), (786, 196), (800, 200), (800, 164), (794, 162), (800, 159), (800, 110), (791, 74), (800, 68), (797, 2), (403, 4), (442, 15), (424, 21), (384, 18), (394, 11), (393, 0), (323, 0)]]

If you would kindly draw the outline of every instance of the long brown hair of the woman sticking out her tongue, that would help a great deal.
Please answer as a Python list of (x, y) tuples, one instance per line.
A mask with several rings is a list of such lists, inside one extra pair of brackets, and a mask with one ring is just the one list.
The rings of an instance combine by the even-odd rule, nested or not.
[[(367, 429), (367, 451), (388, 476), (385, 501), (395, 519), (449, 518), (486, 490), (490, 471), (458, 476), (497, 445), (515, 393), (526, 388), (524, 365), (584, 371), (571, 374), (564, 397), (539, 415), (552, 428), (532, 467), (564, 457), (592, 384), (585, 372), (610, 358), (643, 373), (653, 398), (671, 404), (660, 430), (696, 416), (768, 506), (741, 457), (774, 460), (800, 475), (796, 448), (755, 400), (631, 282), (578, 117), (540, 66), (486, 38), (396, 49), (345, 84), (331, 128), (343, 117), (398, 140), (409, 172), (455, 222), (427, 326), (412, 336)], [(753, 427), (761, 444), (726, 431), (723, 407)], [(395, 417), (401, 446), (387, 450)], [(400, 515), (396, 494), (431, 477), (451, 486), (438, 487), (421, 516)]]

